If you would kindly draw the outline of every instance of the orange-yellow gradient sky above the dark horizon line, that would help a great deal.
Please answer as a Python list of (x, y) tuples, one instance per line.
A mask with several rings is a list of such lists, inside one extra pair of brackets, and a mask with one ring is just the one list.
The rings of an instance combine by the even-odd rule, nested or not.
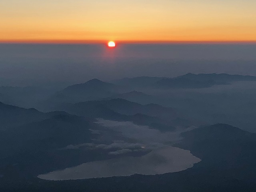
[(1, 0), (0, 41), (256, 41), (256, 0)]

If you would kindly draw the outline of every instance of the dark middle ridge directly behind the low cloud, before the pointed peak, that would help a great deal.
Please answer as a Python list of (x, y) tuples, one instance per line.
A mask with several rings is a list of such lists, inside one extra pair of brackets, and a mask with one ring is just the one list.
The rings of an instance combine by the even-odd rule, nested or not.
[[(148, 125), (159, 130), (174, 130), (173, 126), (187, 126), (192, 121), (183, 120), (173, 108), (163, 107), (158, 104), (138, 104), (124, 99), (110, 99), (86, 101), (76, 104), (62, 103), (56, 110), (64, 110), (70, 114), (88, 118), (104, 118), (116, 121), (131, 121), (135, 124)], [(177, 124), (177, 119), (180, 123)], [(169, 125), (169, 126), (168, 126)]]

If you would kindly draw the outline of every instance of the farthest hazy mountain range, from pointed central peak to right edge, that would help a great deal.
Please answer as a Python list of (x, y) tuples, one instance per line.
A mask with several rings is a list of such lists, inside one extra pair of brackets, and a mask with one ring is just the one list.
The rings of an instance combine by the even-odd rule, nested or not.
[[(56, 102), (77, 103), (103, 98), (123, 98), (146, 104), (154, 101), (154, 96), (145, 94), (143, 90), (208, 88), (214, 85), (225, 85), (235, 81), (256, 81), (254, 76), (230, 74), (191, 74), (176, 78), (136, 77), (113, 80), (112, 83), (92, 79), (82, 84), (75, 84), (56, 92), (45, 102), (44, 107)], [(1, 93), (1, 92), (0, 92)], [(0, 95), (1, 98), (1, 95)]]

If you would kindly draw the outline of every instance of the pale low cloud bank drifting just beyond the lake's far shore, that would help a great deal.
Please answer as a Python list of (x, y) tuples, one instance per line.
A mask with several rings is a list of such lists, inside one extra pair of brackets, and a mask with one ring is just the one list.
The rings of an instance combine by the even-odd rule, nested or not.
[[(181, 140), (180, 133), (184, 130), (178, 130), (176, 132), (160, 132), (159, 130), (150, 129), (148, 126), (136, 125), (132, 122), (118, 122), (112, 120), (104, 120), (99, 118), (96, 122), (112, 131), (122, 134), (124, 138), (132, 139), (134, 142), (125, 142), (123, 140), (113, 140), (111, 144), (105, 144), (100, 142), (105, 142), (104, 140), (97, 140), (97, 143), (83, 143), (77, 145), (68, 145), (61, 150), (68, 149), (79, 149), (87, 148), (89, 150), (94, 149), (130, 149), (130, 150), (156, 150), (164, 146), (170, 146), (173, 143)], [(99, 131), (97, 134), (99, 134)], [(94, 130), (92, 130), (94, 132)], [(106, 136), (106, 133), (102, 134)]]

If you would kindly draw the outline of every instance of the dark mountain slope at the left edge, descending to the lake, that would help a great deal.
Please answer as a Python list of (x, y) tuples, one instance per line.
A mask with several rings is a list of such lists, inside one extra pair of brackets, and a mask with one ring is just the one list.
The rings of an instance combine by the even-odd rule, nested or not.
[[(24, 176), (75, 166), (100, 158), (79, 150), (60, 150), (70, 144), (91, 142), (100, 126), (91, 119), (66, 112), (43, 113), (0, 103), (0, 172), (17, 164)], [(2, 125), (5, 125), (2, 127)]]

